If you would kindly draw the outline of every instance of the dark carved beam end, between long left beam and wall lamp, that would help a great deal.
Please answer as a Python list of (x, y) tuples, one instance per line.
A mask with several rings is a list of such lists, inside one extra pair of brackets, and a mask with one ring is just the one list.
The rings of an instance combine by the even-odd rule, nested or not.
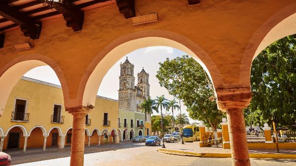
[(67, 27), (72, 27), (74, 31), (82, 29), (84, 12), (72, 3), (58, 4), (55, 9), (63, 14)]

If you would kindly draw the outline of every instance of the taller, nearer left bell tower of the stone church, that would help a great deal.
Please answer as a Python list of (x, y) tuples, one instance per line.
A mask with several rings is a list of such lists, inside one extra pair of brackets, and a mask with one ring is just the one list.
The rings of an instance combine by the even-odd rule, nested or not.
[(134, 65), (126, 57), (124, 63), (120, 64), (118, 103), (119, 109), (136, 111), (135, 106), (135, 77)]

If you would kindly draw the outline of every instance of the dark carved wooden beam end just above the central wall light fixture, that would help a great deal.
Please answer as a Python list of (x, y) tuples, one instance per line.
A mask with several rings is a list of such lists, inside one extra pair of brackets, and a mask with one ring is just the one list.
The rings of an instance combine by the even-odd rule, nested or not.
[(126, 19), (135, 17), (135, 0), (116, 0), (119, 12), (124, 15)]

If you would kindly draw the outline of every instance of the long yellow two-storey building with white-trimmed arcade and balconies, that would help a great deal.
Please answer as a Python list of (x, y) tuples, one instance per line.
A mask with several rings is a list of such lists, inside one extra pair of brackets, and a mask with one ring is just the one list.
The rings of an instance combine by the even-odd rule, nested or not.
[[(86, 115), (85, 145), (119, 143), (118, 101), (97, 96)], [(0, 151), (71, 145), (72, 115), (61, 86), (23, 77), (13, 88), (0, 121)]]

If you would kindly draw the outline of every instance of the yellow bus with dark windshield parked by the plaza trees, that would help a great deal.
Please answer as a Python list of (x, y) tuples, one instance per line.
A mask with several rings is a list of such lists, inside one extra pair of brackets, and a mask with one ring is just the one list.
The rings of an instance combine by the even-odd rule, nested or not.
[(193, 142), (200, 140), (199, 127), (196, 125), (186, 125), (183, 127), (183, 139), (185, 142)]

